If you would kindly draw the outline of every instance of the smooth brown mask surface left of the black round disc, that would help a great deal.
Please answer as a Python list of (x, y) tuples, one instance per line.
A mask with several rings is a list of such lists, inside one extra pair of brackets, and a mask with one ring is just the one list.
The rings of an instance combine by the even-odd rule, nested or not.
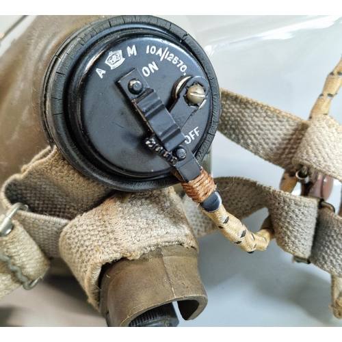
[(60, 45), (103, 16), (38, 16), (0, 59), (0, 185), (48, 144), (40, 120), (44, 75)]

